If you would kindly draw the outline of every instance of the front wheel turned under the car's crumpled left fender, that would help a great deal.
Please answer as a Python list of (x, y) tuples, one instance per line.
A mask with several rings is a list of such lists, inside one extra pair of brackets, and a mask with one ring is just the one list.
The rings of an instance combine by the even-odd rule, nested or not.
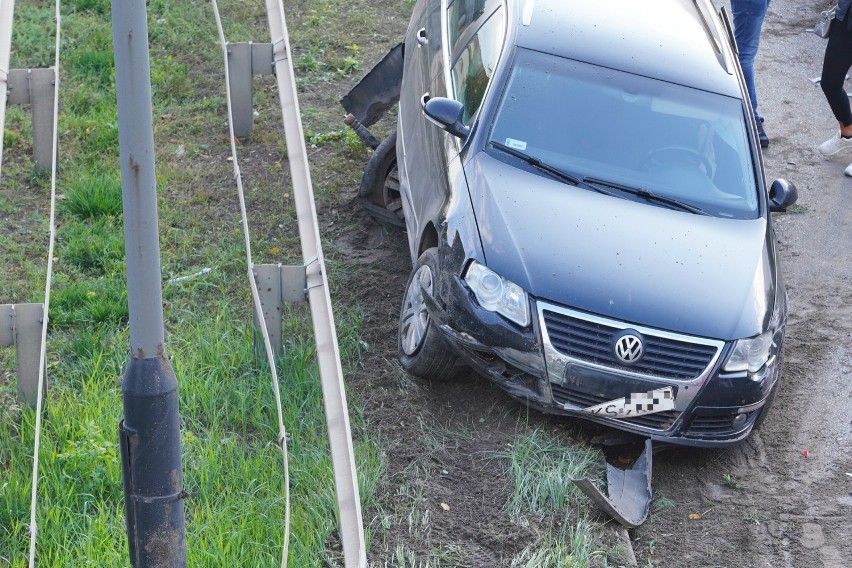
[(438, 249), (430, 248), (417, 259), (399, 314), (399, 361), (414, 376), (431, 381), (448, 381), (457, 374), (458, 357), (435, 326), (423, 301), (424, 291), (432, 294), (438, 276)]

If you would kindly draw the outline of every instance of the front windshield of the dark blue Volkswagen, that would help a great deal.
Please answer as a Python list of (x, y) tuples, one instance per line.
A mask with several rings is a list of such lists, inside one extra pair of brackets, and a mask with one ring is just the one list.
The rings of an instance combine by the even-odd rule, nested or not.
[(745, 117), (739, 99), (519, 50), (489, 141), (579, 179), (754, 219)]

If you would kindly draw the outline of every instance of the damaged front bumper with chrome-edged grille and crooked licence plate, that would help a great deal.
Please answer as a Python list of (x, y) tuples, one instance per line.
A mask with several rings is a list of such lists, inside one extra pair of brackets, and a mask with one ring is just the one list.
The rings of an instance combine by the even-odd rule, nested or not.
[[(427, 297), (430, 317), (463, 361), (510, 396), (551, 414), (580, 417), (655, 441), (728, 446), (751, 433), (778, 380), (779, 360), (726, 373), (731, 342), (602, 318), (531, 298), (522, 328), (480, 307), (464, 280), (447, 277)], [(613, 344), (642, 338), (641, 364), (618, 364)], [(634, 412), (631, 395), (672, 395), (668, 409)], [(611, 404), (605, 404), (611, 403)]]

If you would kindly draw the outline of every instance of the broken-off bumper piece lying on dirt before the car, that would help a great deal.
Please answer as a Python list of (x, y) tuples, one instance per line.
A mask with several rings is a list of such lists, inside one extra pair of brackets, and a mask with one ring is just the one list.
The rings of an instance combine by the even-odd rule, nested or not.
[(645, 450), (631, 469), (619, 469), (606, 464), (607, 493), (601, 493), (587, 479), (571, 481), (610, 517), (629, 529), (638, 527), (648, 518), (651, 507), (651, 440), (645, 441)]

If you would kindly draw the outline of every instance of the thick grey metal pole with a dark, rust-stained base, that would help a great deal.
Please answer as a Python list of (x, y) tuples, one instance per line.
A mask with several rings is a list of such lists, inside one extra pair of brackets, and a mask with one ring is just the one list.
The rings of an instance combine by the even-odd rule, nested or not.
[(177, 379), (165, 351), (145, 0), (113, 0), (118, 142), (130, 308), (119, 438), (130, 561), (186, 566)]

